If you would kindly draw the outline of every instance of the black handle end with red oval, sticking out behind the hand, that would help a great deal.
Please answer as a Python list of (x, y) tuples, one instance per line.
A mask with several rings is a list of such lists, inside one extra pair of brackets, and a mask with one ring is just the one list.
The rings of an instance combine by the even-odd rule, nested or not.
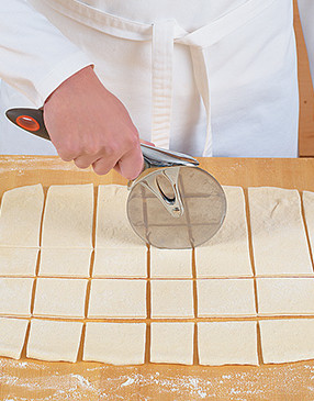
[(44, 113), (41, 109), (10, 109), (5, 111), (7, 118), (13, 124), (30, 132), (31, 134), (51, 141), (49, 134), (44, 123)]

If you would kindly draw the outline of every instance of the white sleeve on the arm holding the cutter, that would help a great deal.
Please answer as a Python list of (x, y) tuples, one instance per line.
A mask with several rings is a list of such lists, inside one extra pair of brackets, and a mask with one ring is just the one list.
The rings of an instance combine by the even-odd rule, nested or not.
[(92, 60), (25, 0), (0, 1), (0, 78), (37, 108)]

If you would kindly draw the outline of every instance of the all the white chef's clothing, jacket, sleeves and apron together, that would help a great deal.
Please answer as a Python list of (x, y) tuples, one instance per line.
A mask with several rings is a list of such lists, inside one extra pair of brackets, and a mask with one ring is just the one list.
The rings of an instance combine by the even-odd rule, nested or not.
[[(314, 7), (299, 0), (314, 67)], [(139, 136), (194, 156), (295, 157), (292, 0), (0, 3), (0, 153), (52, 154), (3, 118), (93, 64)], [(312, 77), (314, 74), (312, 74)]]

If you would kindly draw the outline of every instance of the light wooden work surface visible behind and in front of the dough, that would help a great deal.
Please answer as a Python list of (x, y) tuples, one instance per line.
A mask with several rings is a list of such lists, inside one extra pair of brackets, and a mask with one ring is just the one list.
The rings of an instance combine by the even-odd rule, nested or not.
[[(314, 159), (203, 158), (222, 185), (314, 191)], [(38, 183), (125, 183), (57, 157), (0, 157), (0, 191)], [(0, 338), (1, 341), (1, 338)], [(25, 347), (24, 347), (25, 348)], [(25, 349), (23, 354), (25, 355)], [(116, 367), (0, 358), (0, 400), (313, 400), (314, 360), (283, 365)]]

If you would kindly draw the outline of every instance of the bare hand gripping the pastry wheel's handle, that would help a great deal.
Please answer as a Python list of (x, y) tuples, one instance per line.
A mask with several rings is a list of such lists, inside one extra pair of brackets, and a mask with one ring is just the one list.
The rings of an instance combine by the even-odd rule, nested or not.
[(58, 155), (99, 175), (112, 168), (127, 179), (143, 169), (139, 137), (127, 110), (91, 66), (64, 81), (45, 101), (44, 122)]

